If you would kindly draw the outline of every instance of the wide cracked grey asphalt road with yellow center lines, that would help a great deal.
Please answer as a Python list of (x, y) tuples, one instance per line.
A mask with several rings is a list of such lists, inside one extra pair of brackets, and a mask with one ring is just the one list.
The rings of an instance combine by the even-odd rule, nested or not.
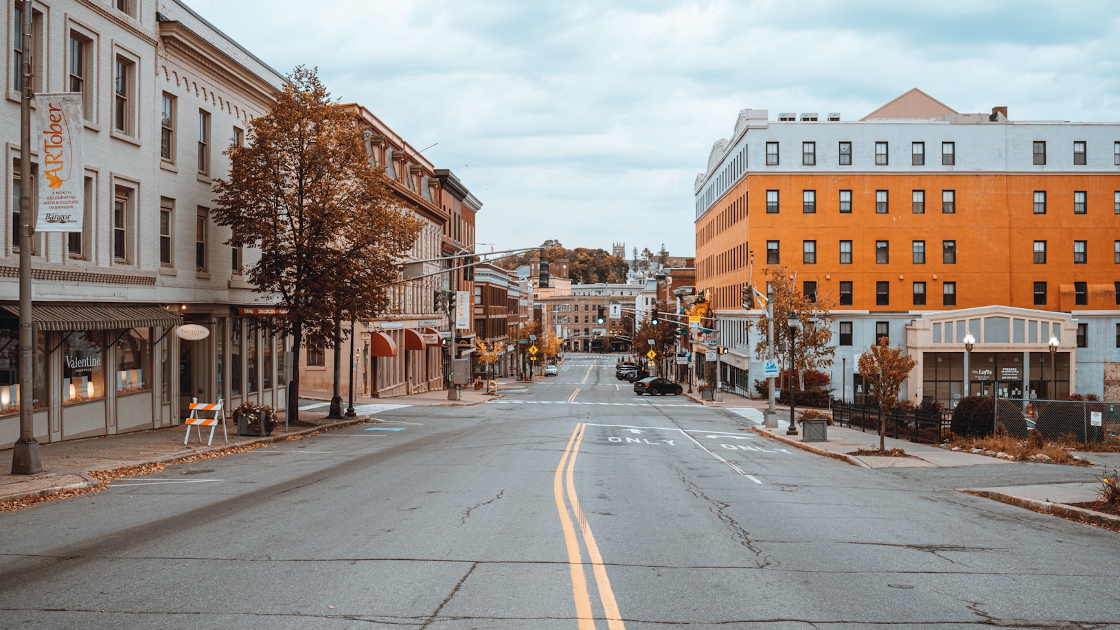
[(1117, 534), (636, 397), (613, 363), (0, 515), (0, 627), (1120, 628)]

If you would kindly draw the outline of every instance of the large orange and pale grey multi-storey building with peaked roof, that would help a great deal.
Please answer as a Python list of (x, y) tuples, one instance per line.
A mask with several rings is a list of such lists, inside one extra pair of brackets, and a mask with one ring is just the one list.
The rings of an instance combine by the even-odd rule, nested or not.
[(1120, 124), (962, 114), (916, 88), (858, 121), (767, 119), (740, 112), (696, 184), (697, 284), (732, 347), (725, 382), (760, 367), (741, 333), (754, 253), (837, 303), (837, 397), (860, 398), (856, 360), (887, 335), (918, 359), (915, 402), (951, 405), (965, 380), (1120, 399)]

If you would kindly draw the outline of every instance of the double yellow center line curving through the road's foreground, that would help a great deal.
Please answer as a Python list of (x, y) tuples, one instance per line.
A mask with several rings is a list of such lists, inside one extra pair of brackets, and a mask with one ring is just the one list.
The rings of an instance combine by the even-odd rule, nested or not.
[[(572, 394), (572, 397), (575, 397), (575, 394)], [(579, 499), (576, 497), (576, 485), (573, 481), (576, 455), (579, 453), (579, 445), (584, 441), (585, 426), (582, 422), (576, 425), (576, 430), (572, 431), (571, 438), (568, 440), (568, 445), (560, 457), (560, 463), (557, 466), (556, 476), (552, 479), (552, 492), (557, 500), (557, 511), (560, 513), (560, 526), (563, 528), (564, 545), (568, 547), (568, 564), (571, 570), (571, 593), (576, 601), (576, 619), (579, 621), (579, 630), (595, 630), (595, 615), (591, 613), (591, 598), (587, 590), (584, 556), (580, 553), (579, 539), (576, 537), (576, 526), (572, 521), (572, 516), (579, 523), (584, 545), (587, 547), (587, 556), (591, 565), (591, 572), (595, 575), (595, 584), (599, 593), (599, 601), (603, 604), (604, 617), (607, 620), (607, 628), (610, 630), (625, 630), (626, 626), (618, 613), (618, 604), (615, 602), (614, 591), (610, 590), (610, 580), (607, 579), (607, 568), (603, 564), (603, 556), (599, 554), (598, 545), (595, 544), (591, 526), (587, 523), (584, 510), (579, 507)]]

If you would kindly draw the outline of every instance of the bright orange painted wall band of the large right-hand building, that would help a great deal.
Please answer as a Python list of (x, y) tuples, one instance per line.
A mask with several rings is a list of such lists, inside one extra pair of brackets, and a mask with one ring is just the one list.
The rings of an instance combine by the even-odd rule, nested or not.
[[(766, 191), (780, 191), (778, 214), (766, 214)], [(816, 213), (805, 214), (802, 191), (816, 191)], [(942, 214), (942, 190), (955, 191), (955, 213)], [(839, 191), (852, 191), (851, 214), (839, 213)], [(876, 214), (876, 190), (887, 190), (888, 214)], [(925, 213), (913, 214), (912, 191), (925, 190)], [(1034, 214), (1034, 191), (1047, 192), (1045, 215)], [(1086, 214), (1074, 214), (1074, 191), (1088, 194)], [(818, 282), (839, 293), (853, 282), (853, 303), (840, 309), (941, 310), (1005, 304), (1070, 311), (1116, 309), (1120, 281), (1113, 210), (1120, 175), (1008, 173), (756, 173), (748, 176), (697, 222), (697, 283), (713, 290), (717, 309), (739, 307), (746, 262), (726, 264), (741, 243), (755, 253), (755, 282), (766, 265), (766, 241), (781, 242), (782, 263), (799, 285)], [(725, 210), (747, 195), (747, 216), (728, 223)], [(839, 263), (839, 242), (852, 242), (852, 263)], [(876, 264), (875, 242), (889, 242), (889, 264)], [(816, 264), (802, 262), (802, 242), (816, 241)], [(912, 242), (925, 241), (925, 264), (912, 262)], [(956, 263), (942, 262), (942, 241), (955, 241)], [(1034, 241), (1047, 242), (1046, 264), (1034, 264)], [(1086, 264), (1073, 263), (1073, 242), (1086, 242)], [(716, 263), (724, 262), (722, 265)], [(899, 278), (900, 276), (900, 278)], [(890, 283), (889, 305), (876, 304), (876, 282)], [(913, 302), (913, 282), (926, 283), (926, 304)], [(944, 282), (956, 283), (956, 304), (942, 305)], [(1074, 305), (1074, 281), (1089, 284), (1089, 303)], [(1034, 282), (1047, 283), (1047, 303), (1034, 303)]]

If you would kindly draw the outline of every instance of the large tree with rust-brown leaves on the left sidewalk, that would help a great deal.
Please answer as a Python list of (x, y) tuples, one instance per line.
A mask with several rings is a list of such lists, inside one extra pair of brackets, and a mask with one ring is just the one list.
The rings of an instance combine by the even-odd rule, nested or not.
[[(277, 298), (282, 314), (271, 326), (291, 336), (297, 366), (305, 344), (335, 345), (339, 320), (389, 310), (385, 288), (399, 280), (420, 223), (395, 207), (361, 130), (314, 68), (297, 66), (269, 113), (249, 122), (249, 143), (226, 154), (230, 177), (215, 182), (213, 217), (233, 228), (228, 244), (260, 248), (245, 275)], [(297, 367), (289, 420), (298, 420), (298, 399)]]

